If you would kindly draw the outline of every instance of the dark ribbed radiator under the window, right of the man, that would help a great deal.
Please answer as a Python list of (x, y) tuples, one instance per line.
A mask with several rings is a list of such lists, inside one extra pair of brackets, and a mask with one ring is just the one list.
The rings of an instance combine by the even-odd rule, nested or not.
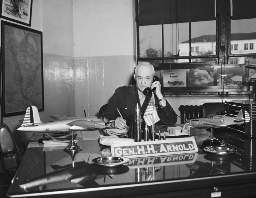
[[(202, 105), (180, 105), (180, 123), (184, 124), (185, 118), (195, 118), (195, 117), (202, 117)], [(186, 116), (185, 116), (186, 115)], [(183, 119), (182, 119), (183, 118)]]

